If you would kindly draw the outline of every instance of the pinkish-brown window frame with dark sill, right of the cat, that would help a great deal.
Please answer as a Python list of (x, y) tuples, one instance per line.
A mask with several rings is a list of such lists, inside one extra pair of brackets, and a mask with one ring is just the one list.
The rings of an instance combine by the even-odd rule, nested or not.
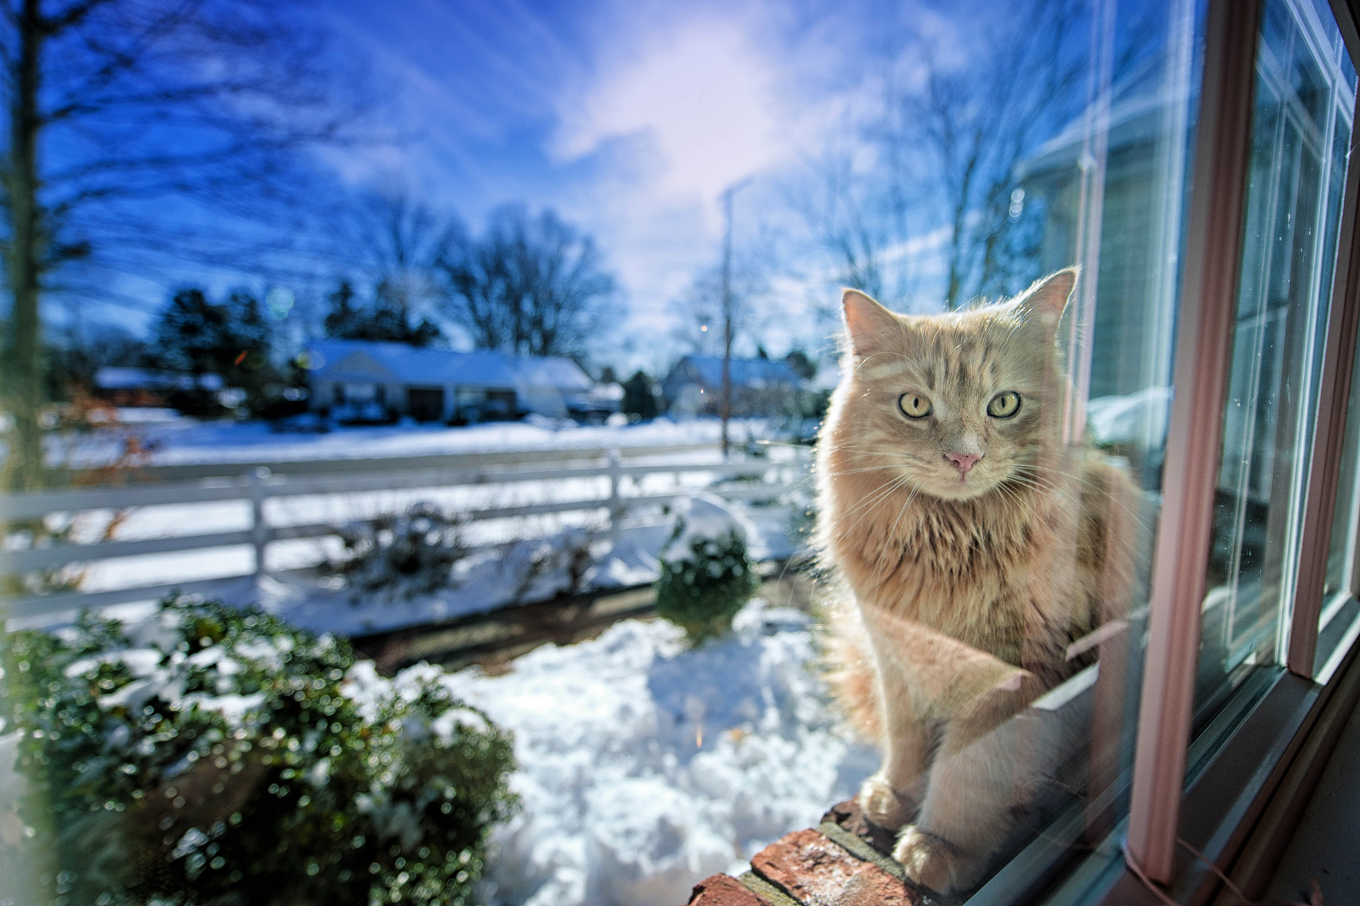
[[(1346, 53), (1360, 60), (1360, 0), (1330, 0)], [(1315, 675), (1323, 607), (1360, 598), (1360, 550), (1349, 592), (1323, 600), (1341, 479), (1346, 407), (1360, 326), (1360, 153), (1346, 166), (1331, 306), (1322, 349), (1293, 613), (1285, 666), (1258, 670), (1191, 742), (1200, 609), (1238, 302), (1257, 42), (1263, 0), (1208, 0), (1194, 175), (1185, 236), (1164, 507), (1127, 818), (1093, 846), (1049, 903), (1156, 903), (1130, 860), (1176, 902), (1208, 903), (1228, 872), (1247, 895), (1269, 880), (1312, 784), (1360, 701), (1356, 632)], [(1356, 102), (1360, 125), (1360, 92)], [(1352, 133), (1352, 147), (1357, 136)], [(1214, 425), (1204, 431), (1204, 425)], [(1360, 534), (1357, 534), (1360, 547)], [(1360, 626), (1360, 622), (1357, 622)], [(1277, 791), (1280, 792), (1276, 796)], [(1178, 845), (1194, 846), (1213, 865)]]

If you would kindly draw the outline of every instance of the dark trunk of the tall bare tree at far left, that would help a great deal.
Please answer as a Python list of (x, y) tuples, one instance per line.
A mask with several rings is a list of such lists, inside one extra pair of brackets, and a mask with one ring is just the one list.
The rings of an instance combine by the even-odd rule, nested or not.
[(14, 293), (14, 359), (10, 409), (16, 446), (10, 451), (10, 484), (42, 485), (42, 337), (38, 321), (38, 114), (42, 19), (39, 0), (19, 14), (15, 94), (10, 107), (10, 289)]

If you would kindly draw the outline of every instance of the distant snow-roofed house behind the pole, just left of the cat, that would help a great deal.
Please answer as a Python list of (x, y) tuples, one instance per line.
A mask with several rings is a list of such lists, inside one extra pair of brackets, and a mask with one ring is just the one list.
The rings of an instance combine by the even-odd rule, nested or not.
[[(802, 379), (785, 361), (732, 360), (732, 414), (775, 416), (798, 409)], [(679, 416), (722, 413), (722, 359), (685, 356), (661, 382), (666, 412)]]

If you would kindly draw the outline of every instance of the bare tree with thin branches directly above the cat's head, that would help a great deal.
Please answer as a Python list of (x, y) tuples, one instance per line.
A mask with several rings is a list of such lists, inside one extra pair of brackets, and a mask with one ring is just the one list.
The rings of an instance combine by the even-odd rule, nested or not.
[(1021, 0), (974, 30), (976, 45), (952, 68), (936, 39), (894, 33), (879, 102), (832, 136), (792, 193), (839, 283), (910, 295), (923, 251), (913, 246), (932, 232), (944, 235), (947, 307), (1031, 276), (1035, 231), (1016, 167), (1078, 109), (1077, 12), (1074, 0)]

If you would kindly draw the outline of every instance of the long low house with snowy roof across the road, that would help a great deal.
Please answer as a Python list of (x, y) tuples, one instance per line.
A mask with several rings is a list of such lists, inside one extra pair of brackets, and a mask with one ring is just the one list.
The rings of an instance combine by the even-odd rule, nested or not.
[(416, 421), (479, 421), (518, 413), (566, 416), (590, 378), (570, 359), (422, 349), (326, 340), (305, 352), (311, 407), (384, 412)]

